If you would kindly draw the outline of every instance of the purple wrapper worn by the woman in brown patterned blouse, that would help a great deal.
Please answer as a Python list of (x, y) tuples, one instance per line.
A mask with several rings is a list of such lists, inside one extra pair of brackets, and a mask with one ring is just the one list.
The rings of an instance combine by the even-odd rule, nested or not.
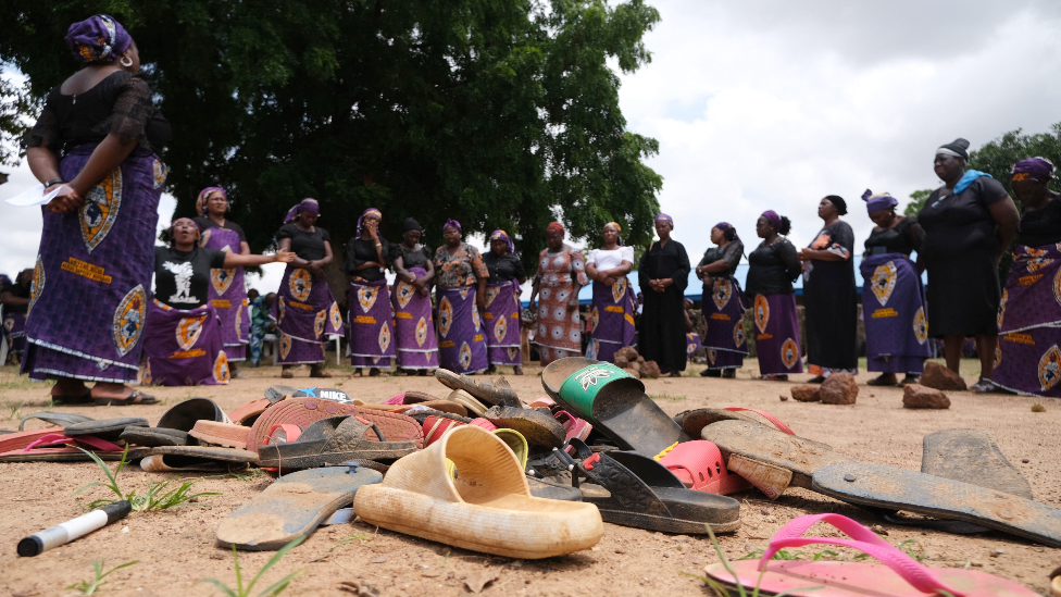
[(437, 290), (438, 364), (454, 373), (478, 373), (489, 365), (475, 290), (475, 286)]

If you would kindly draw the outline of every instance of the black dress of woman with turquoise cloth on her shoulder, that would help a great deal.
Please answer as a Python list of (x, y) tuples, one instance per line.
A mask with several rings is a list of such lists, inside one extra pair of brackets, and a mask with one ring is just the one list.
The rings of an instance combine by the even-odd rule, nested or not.
[(925, 231), (920, 260), (928, 271), (928, 334), (998, 334), (998, 235), (988, 206), (1006, 198), (981, 176), (959, 194), (936, 189), (918, 214)]

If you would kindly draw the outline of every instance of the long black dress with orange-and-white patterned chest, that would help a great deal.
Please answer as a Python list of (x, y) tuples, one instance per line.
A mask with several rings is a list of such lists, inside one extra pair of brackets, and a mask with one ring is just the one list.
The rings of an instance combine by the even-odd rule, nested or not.
[(854, 232), (847, 222), (822, 228), (808, 245), (842, 257), (812, 259), (803, 272), (807, 310), (807, 362), (829, 371), (854, 373), (859, 368), (859, 297), (854, 286)]

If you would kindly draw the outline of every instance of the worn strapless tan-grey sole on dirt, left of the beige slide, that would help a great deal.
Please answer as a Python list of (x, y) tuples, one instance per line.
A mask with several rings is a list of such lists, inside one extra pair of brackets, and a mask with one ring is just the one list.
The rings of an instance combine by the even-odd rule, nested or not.
[(272, 551), (308, 536), (359, 489), (383, 475), (363, 467), (328, 467), (286, 474), (221, 522), (217, 544)]

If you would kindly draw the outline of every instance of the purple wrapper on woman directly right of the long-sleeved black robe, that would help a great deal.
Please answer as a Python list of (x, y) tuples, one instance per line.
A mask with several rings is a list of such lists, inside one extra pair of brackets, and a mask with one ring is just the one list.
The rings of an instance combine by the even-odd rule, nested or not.
[(740, 369), (748, 355), (745, 337), (745, 294), (733, 276), (715, 276), (704, 285), (700, 307), (708, 331), (703, 348), (708, 349), (708, 369)]

